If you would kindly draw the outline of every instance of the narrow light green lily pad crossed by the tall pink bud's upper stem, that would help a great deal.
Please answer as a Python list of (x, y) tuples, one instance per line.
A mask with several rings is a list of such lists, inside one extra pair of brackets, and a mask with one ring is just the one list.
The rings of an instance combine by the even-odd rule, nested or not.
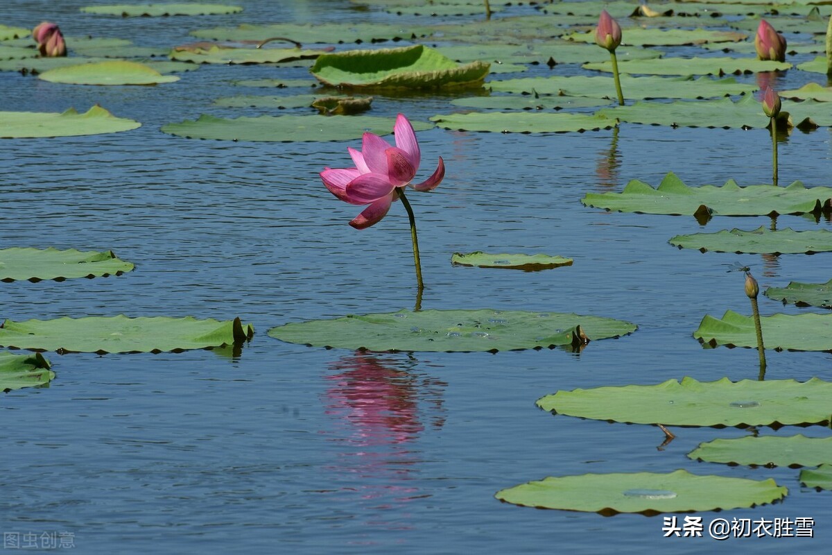
[[(585, 63), (584, 69), (612, 73), (612, 62)], [(658, 60), (619, 60), (621, 73), (644, 75), (719, 75), (728, 73), (782, 72), (791, 67), (787, 62), (771, 62), (757, 58), (736, 57), (665, 57)]]

